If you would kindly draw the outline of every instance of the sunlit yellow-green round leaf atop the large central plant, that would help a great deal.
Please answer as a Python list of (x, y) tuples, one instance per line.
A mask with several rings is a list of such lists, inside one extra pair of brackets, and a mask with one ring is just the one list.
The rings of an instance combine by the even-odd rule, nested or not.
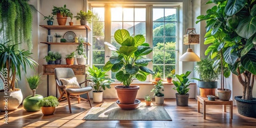
[(118, 42), (118, 44), (122, 45), (123, 41), (130, 37), (129, 31), (125, 29), (118, 29), (116, 30), (114, 34), (115, 40)]

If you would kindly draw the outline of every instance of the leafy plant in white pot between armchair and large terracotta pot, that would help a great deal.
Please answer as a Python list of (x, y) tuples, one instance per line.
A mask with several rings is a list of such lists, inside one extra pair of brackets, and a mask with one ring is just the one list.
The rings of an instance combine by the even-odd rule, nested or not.
[(105, 75), (105, 73), (105, 71), (101, 71), (101, 69), (95, 66), (93, 66), (93, 68), (89, 67), (87, 74), (91, 77), (87, 77), (87, 79), (91, 79), (93, 82), (92, 87), (95, 89), (95, 91), (93, 91), (93, 102), (95, 103), (102, 102), (103, 91), (101, 91), (101, 89), (110, 89), (110, 84), (114, 82), (113, 79), (105, 78), (105, 76), (108, 76)]

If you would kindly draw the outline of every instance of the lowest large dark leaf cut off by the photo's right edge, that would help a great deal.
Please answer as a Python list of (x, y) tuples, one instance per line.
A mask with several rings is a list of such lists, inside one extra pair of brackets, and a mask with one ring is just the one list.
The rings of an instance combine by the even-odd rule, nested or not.
[(256, 56), (256, 51), (251, 50), (246, 55), (241, 57), (241, 65), (254, 75), (256, 75), (256, 57), (255, 56)]

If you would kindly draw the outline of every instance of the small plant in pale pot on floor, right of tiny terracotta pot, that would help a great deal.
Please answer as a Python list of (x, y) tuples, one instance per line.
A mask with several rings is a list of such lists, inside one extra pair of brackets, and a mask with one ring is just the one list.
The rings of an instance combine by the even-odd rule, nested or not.
[(163, 90), (163, 83), (162, 80), (159, 80), (155, 85), (155, 88), (151, 90), (154, 92), (156, 104), (163, 104), (164, 102), (164, 94), (162, 93)]

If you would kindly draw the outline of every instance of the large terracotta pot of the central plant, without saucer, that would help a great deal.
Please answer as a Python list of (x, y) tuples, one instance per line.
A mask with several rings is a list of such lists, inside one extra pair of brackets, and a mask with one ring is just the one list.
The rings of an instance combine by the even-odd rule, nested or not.
[[(131, 88), (122, 88), (124, 86), (115, 86), (118, 99), (121, 104), (134, 104), (139, 86), (130, 86)], [(129, 98), (128, 98), (129, 97)]]

